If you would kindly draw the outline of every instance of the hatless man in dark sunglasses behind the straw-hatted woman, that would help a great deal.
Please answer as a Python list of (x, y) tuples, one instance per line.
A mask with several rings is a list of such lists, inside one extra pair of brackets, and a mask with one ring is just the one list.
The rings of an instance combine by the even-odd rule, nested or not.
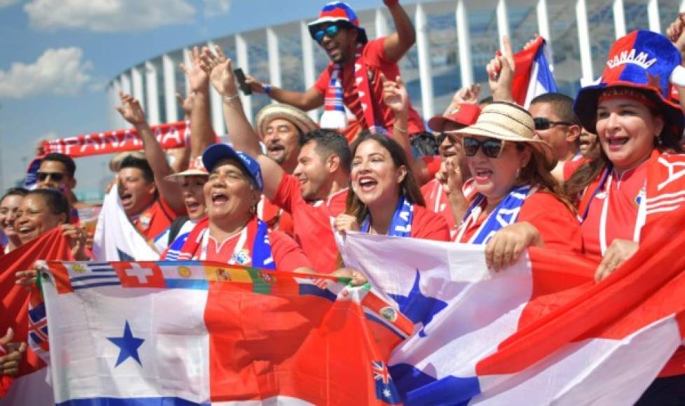
[(561, 93), (544, 93), (532, 99), (528, 108), (535, 132), (554, 149), (557, 166), (552, 175), (560, 182), (569, 179), (583, 163), (580, 155), (580, 121), (573, 111), (573, 99)]

